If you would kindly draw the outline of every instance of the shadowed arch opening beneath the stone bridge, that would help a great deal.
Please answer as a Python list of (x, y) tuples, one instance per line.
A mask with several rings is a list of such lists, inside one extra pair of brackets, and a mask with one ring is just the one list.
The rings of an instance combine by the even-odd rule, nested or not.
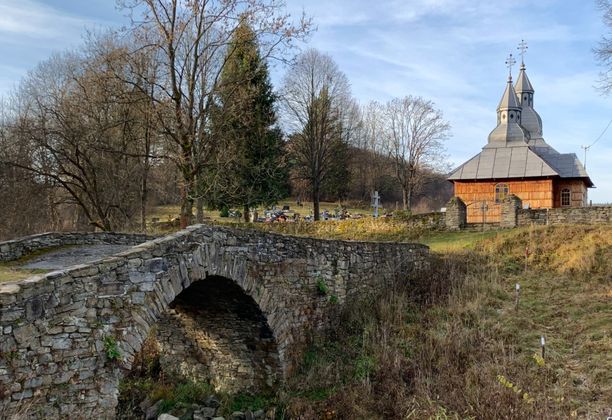
[(282, 378), (265, 314), (225, 277), (208, 276), (183, 290), (147, 340), (165, 377), (208, 382), (223, 392), (270, 390)]

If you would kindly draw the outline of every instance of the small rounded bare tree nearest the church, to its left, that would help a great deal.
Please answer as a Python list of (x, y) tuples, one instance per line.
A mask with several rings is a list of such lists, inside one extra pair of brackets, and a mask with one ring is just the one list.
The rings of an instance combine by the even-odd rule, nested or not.
[(383, 145), (402, 188), (403, 208), (410, 210), (421, 175), (444, 161), (443, 142), (449, 137), (450, 125), (431, 101), (413, 96), (388, 102), (384, 120)]

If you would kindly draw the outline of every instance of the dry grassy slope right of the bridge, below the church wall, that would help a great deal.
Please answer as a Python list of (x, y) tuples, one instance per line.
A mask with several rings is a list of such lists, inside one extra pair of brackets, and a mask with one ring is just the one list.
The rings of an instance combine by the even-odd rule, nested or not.
[(610, 238), (610, 226), (502, 233), (352, 305), (290, 381), (288, 417), (612, 414)]

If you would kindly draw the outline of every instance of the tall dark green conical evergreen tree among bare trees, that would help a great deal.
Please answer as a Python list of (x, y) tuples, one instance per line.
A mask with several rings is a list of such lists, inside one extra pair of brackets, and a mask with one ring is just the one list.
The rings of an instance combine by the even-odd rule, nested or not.
[(218, 204), (242, 207), (248, 220), (251, 208), (286, 197), (288, 171), (268, 65), (245, 19), (230, 43), (218, 98), (213, 130), (221, 140), (223, 179), (212, 196)]

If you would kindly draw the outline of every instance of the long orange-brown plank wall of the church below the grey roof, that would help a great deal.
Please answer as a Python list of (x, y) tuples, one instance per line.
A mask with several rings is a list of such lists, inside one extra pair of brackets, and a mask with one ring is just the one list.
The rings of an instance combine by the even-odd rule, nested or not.
[[(455, 196), (461, 198), (467, 206), (467, 222), (482, 223), (483, 214), (480, 203), (486, 202), (488, 210), (484, 220), (487, 223), (499, 222), (500, 206), (495, 203), (496, 181), (455, 181)], [(508, 194), (518, 196), (523, 205), (531, 208), (553, 207), (553, 181), (536, 179), (532, 181), (501, 181), (508, 185)]]

